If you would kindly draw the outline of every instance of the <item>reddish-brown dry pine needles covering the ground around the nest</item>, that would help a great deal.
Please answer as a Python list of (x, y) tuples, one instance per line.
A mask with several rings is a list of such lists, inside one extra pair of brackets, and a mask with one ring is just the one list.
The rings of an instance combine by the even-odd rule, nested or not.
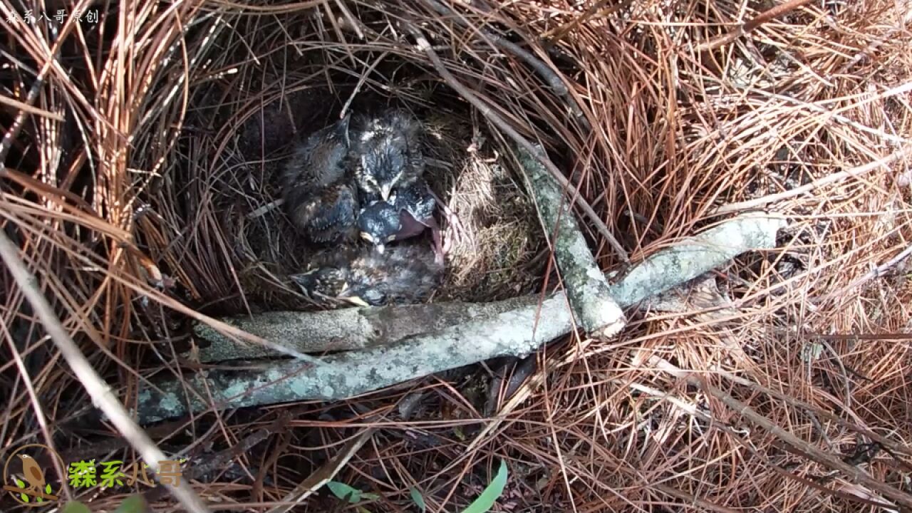
[[(72, 13), (88, 2), (63, 4)], [(908, 2), (804, 2), (707, 51), (694, 47), (775, 4), (482, 2), (459, 4), (456, 16), (435, 14), (435, 4), (139, 3), (102, 9), (98, 25), (67, 21), (58, 39), (45, 22), (2, 36), (0, 55), (16, 63), (0, 68), (4, 131), (24, 112), (0, 146), (5, 234), (124, 402), (141, 377), (177, 372), (170, 344), (185, 329), (181, 305), (304, 306), (283, 276), (306, 251), (280, 209), (248, 214), (275, 197), (290, 134), (324, 122), (354, 92), (353, 109), (389, 101), (458, 120), (472, 135), (450, 148), (482, 136), (479, 160), (515, 170), (509, 141), (440, 83), (398, 19), (420, 24), (463, 85), (544, 141), (634, 260), (717, 220), (722, 204), (881, 159), (912, 136)], [(4, 19), (25, 9), (0, 2)], [(558, 68), (585, 120), (466, 26)], [(49, 66), (56, 51), (60, 64)], [(29, 98), (38, 75), (47, 83)], [(481, 413), (482, 369), (151, 434), (200, 462), (257, 441), (228, 470), (196, 476), (200, 493), (234, 509), (264, 510), (363, 419), (384, 414), (338, 476), (375, 488), (383, 500), (372, 510), (408, 510), (412, 486), (431, 510), (457, 510), (500, 458), (513, 476), (500, 510), (874, 510), (863, 501), (888, 501), (883, 493), (834, 474), (783, 433), (836, 459), (884, 437), (892, 449), (853, 463), (912, 493), (912, 347), (892, 335), (910, 331), (912, 289), (905, 261), (886, 265), (912, 236), (908, 163), (771, 204), (792, 228), (779, 250), (713, 276), (725, 308), (635, 315), (618, 340), (551, 344), (492, 418)], [(474, 185), (451, 183), (454, 208), (460, 187)], [(591, 220), (579, 219), (600, 263), (616, 269)], [(531, 254), (540, 243), (516, 244), (532, 245), (527, 278), (538, 283), (544, 264)], [(6, 273), (0, 280), (5, 449), (53, 434), (69, 460), (133, 460), (116, 433), (80, 423), (90, 401), (19, 289)], [(395, 406), (415, 391), (425, 393), (421, 407), (397, 421)], [(174, 508), (161, 493), (150, 499)], [(109, 490), (93, 506), (117, 500)], [(307, 510), (325, 503), (311, 499)]]

